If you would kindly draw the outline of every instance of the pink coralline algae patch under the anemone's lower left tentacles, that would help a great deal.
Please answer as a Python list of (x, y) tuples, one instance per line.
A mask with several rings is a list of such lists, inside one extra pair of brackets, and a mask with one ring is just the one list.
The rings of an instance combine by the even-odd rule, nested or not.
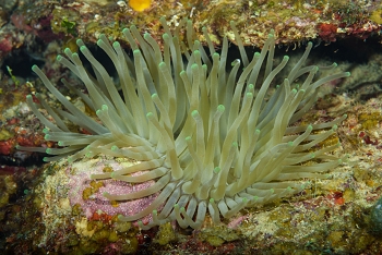
[[(83, 161), (85, 161), (84, 166), (81, 166), (83, 165)], [(89, 161), (93, 163), (95, 162), (95, 166), (88, 166), (87, 163)], [(97, 181), (102, 182), (102, 186), (99, 189), (94, 189), (95, 192), (92, 193), (88, 197), (84, 196), (84, 191), (86, 189), (92, 189), (92, 174), (102, 173), (103, 169), (105, 168), (111, 168), (114, 171), (123, 168), (123, 163), (117, 162), (112, 159), (91, 159), (89, 161), (84, 159), (80, 162), (74, 162), (67, 169), (67, 174), (69, 175), (70, 190), (68, 196), (70, 204), (72, 207), (80, 205), (87, 219), (92, 219), (94, 215), (103, 214), (106, 214), (108, 216), (132, 216), (146, 208), (156, 198), (157, 194), (127, 202), (117, 203), (109, 201), (104, 197), (104, 192), (117, 195), (130, 194), (136, 191), (145, 190), (155, 183), (154, 181), (150, 181), (144, 183), (130, 184), (111, 179)], [(142, 173), (134, 174), (139, 175)], [(142, 220), (143, 223), (148, 222), (151, 220), (151, 216), (146, 216), (140, 220)]]

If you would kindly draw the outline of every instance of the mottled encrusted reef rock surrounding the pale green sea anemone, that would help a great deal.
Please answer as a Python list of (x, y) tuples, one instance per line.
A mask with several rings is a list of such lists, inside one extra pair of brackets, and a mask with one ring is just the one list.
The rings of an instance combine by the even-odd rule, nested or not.
[[(381, 1), (372, 0), (0, 0), (1, 254), (382, 254), (381, 15)], [(81, 38), (112, 73), (110, 60), (96, 46), (98, 36), (121, 41), (129, 52), (122, 29), (135, 25), (160, 46), (162, 16), (172, 31), (182, 19), (192, 20), (206, 48), (202, 27), (216, 50), (227, 36), (230, 61), (240, 58), (231, 21), (249, 54), (274, 29), (275, 64), (285, 54), (296, 63), (312, 41), (307, 65), (336, 62), (337, 71), (351, 76), (321, 86), (318, 102), (300, 122), (347, 114), (320, 146), (341, 143), (335, 155), (348, 159), (329, 171), (331, 178), (303, 179), (300, 193), (244, 208), (222, 224), (206, 217), (198, 230), (177, 223), (140, 230), (117, 220), (122, 206), (97, 204), (107, 183), (86, 179), (97, 169), (120, 168), (123, 160), (99, 156), (69, 166), (45, 163), (46, 155), (16, 149), (58, 146), (45, 141), (45, 126), (26, 104), (27, 95), (40, 92), (52, 107), (60, 107), (32, 72), (34, 64), (73, 105), (92, 114), (59, 82), (64, 77), (82, 86), (58, 64), (57, 54), (65, 48), (79, 51), (75, 40)]]

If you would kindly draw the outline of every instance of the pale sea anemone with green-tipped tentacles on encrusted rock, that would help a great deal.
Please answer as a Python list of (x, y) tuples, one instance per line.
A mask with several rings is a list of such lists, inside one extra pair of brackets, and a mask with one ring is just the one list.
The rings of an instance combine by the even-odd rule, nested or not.
[[(329, 123), (293, 125), (317, 101), (322, 84), (349, 76), (341, 72), (313, 81), (319, 68), (303, 66), (311, 42), (275, 93), (266, 98), (275, 76), (288, 62), (288, 57), (284, 57), (273, 68), (272, 33), (261, 52), (249, 59), (231, 25), (241, 60), (235, 60), (227, 73), (226, 38), (218, 53), (203, 31), (210, 58), (200, 41), (193, 41), (190, 21), (183, 21), (175, 35), (164, 19), (160, 22), (165, 31), (163, 51), (148, 34), (141, 36), (135, 26), (123, 29), (133, 50), (132, 58), (118, 41), (111, 46), (105, 35), (97, 41), (117, 70), (122, 96), (82, 40), (77, 45), (95, 76), (70, 49), (64, 50), (67, 58), (58, 56), (57, 60), (85, 84), (88, 95), (74, 89), (67, 81), (63, 83), (96, 112), (98, 120), (74, 107), (40, 69), (33, 66), (68, 110), (52, 109), (37, 94), (41, 107), (55, 120), (50, 122), (39, 112), (32, 96), (27, 97), (33, 112), (47, 126), (45, 138), (62, 147), (19, 148), (56, 155), (46, 161), (67, 156), (69, 160), (76, 160), (98, 154), (136, 160), (131, 167), (94, 174), (92, 179), (128, 183), (155, 181), (150, 187), (130, 194), (104, 193), (108, 199), (119, 202), (158, 194), (142, 211), (119, 216), (122, 221), (135, 221), (152, 214), (151, 222), (141, 223), (144, 229), (172, 220), (182, 228), (200, 228), (207, 211), (218, 223), (220, 216), (229, 218), (243, 207), (298, 193), (303, 185), (294, 180), (326, 178), (323, 172), (342, 162), (330, 155), (338, 145), (315, 150), (313, 146), (335, 133), (336, 124), (345, 116)], [(184, 26), (187, 42), (179, 39)], [(335, 64), (326, 69), (333, 68)], [(302, 80), (299, 85), (294, 83), (297, 78)], [(71, 132), (64, 119), (88, 134)]]

